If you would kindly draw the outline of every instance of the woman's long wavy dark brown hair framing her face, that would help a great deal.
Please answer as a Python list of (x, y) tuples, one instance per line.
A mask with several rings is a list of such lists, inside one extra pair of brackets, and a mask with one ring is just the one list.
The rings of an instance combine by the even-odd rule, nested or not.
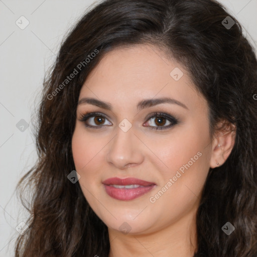
[[(227, 16), (235, 22), (231, 28), (224, 24)], [(67, 179), (75, 170), (71, 140), (88, 74), (108, 51), (135, 44), (165, 49), (186, 67), (208, 102), (211, 135), (220, 119), (236, 126), (231, 154), (222, 166), (210, 168), (203, 188), (194, 257), (256, 257), (257, 60), (241, 25), (213, 0), (105, 0), (69, 31), (43, 83), (38, 162), (17, 185), (30, 216), (16, 241), (16, 257), (108, 256), (107, 226), (79, 184)], [(78, 64), (78, 74), (63, 84)], [(30, 204), (23, 200), (26, 190), (33, 195)], [(236, 228), (229, 236), (221, 230), (227, 221)]]

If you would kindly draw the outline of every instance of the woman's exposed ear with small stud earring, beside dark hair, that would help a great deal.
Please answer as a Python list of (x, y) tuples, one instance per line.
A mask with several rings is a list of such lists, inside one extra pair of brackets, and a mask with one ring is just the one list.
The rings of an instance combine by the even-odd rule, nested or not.
[(217, 124), (212, 141), (211, 168), (216, 168), (226, 161), (233, 149), (235, 135), (236, 126), (234, 124), (225, 120)]

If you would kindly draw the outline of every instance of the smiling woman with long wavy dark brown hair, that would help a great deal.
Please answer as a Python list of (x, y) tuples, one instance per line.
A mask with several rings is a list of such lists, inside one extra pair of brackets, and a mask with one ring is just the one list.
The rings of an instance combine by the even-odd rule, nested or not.
[(255, 257), (256, 68), (215, 1), (90, 10), (44, 81), (16, 256)]

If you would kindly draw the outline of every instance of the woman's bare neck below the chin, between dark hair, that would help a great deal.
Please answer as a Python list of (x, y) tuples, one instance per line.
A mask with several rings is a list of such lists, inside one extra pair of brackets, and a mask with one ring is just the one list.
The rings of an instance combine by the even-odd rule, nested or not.
[(108, 257), (193, 257), (197, 248), (196, 218), (192, 213), (152, 233), (123, 234), (110, 228), (108, 233)]

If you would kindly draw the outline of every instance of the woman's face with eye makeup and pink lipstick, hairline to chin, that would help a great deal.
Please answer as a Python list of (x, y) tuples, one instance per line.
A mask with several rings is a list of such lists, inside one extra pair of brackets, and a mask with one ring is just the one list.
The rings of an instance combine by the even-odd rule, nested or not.
[[(80, 120), (85, 113), (94, 114)], [(207, 102), (158, 48), (116, 48), (81, 88), (72, 152), (83, 194), (109, 229), (150, 233), (186, 222), (211, 166)]]

